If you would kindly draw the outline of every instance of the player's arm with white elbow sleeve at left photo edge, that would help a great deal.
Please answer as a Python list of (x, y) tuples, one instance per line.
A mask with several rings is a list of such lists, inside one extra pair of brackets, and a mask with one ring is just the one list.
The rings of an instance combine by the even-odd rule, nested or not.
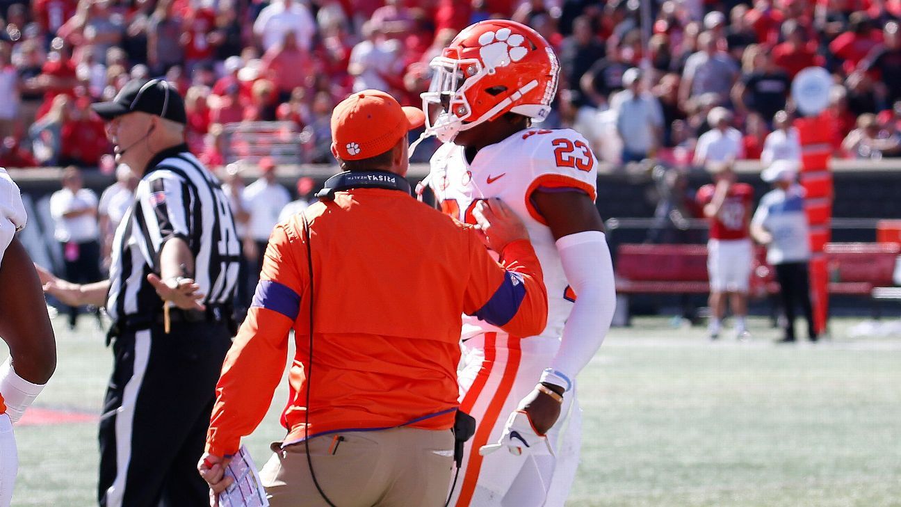
[(0, 394), (14, 422), (41, 393), (56, 369), (56, 340), (41, 282), (15, 238), (0, 263), (0, 336), (10, 358), (0, 366)]

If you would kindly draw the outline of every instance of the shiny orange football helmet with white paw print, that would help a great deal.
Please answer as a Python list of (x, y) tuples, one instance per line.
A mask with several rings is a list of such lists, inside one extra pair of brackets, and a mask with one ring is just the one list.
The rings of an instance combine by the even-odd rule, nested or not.
[(560, 71), (548, 41), (508, 20), (463, 29), (430, 67), (432, 85), (422, 94), (425, 134), (445, 143), (508, 112), (541, 122), (551, 112)]

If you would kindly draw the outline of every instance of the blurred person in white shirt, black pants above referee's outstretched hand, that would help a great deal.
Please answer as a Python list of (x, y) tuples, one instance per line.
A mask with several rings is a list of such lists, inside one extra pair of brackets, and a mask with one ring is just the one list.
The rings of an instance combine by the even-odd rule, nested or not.
[[(62, 173), (62, 189), (50, 196), (53, 237), (62, 251), (63, 274), (69, 281), (92, 283), (100, 275), (100, 243), (97, 226), (97, 195), (84, 188), (81, 171), (68, 167)], [(78, 307), (68, 307), (68, 327), (75, 329)], [(100, 324), (100, 313), (96, 313)]]

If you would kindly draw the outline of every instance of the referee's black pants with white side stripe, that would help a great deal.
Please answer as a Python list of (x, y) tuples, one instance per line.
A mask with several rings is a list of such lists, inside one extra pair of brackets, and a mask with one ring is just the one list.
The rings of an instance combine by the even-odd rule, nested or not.
[(104, 507), (205, 507), (197, 474), (215, 385), (232, 345), (225, 322), (173, 322), (114, 337), (100, 419), (98, 499)]

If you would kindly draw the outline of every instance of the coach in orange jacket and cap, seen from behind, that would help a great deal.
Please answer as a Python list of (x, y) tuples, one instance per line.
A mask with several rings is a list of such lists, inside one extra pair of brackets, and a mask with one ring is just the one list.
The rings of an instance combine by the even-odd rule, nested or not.
[[(376, 90), (332, 113), (343, 172), (321, 201), (276, 226), (247, 320), (223, 366), (201, 475), (214, 493), (224, 456), (263, 419), (296, 355), (287, 437), (260, 478), (273, 507), (437, 507), (451, 485), (462, 313), (514, 336), (547, 319), (525, 227), (482, 202), (478, 233), (410, 196), (407, 131), (423, 112)], [(326, 500), (326, 498), (328, 500)]]

